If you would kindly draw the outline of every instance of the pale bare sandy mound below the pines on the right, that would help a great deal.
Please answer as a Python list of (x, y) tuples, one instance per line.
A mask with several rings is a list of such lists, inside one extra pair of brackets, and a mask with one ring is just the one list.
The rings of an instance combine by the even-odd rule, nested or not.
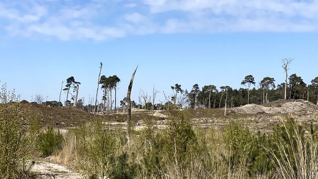
[(257, 114), (257, 113), (267, 113), (267, 114), (279, 114), (279, 113), (297, 113), (301, 111), (317, 111), (318, 106), (304, 100), (278, 100), (267, 104), (267, 106), (260, 106), (255, 104), (245, 105), (237, 108), (233, 108), (230, 111), (235, 113), (244, 114)]

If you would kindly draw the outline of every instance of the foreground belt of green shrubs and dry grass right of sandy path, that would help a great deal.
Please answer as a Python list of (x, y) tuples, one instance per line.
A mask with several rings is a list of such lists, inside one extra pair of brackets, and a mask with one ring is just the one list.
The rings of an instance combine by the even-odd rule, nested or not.
[(193, 127), (181, 111), (169, 111), (165, 129), (157, 129), (151, 115), (143, 121), (146, 127), (132, 133), (130, 147), (125, 132), (102, 119), (75, 129), (74, 163), (91, 178), (318, 177), (316, 133), (306, 136), (292, 117), (269, 136), (235, 119), (222, 130)]

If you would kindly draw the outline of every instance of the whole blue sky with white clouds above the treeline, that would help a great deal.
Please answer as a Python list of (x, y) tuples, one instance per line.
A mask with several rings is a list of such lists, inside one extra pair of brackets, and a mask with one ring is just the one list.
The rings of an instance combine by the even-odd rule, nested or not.
[(318, 76), (317, 24), (317, 1), (4, 0), (0, 83), (22, 99), (58, 100), (61, 81), (74, 76), (87, 100), (103, 62), (102, 74), (121, 78), (122, 99), (139, 64), (137, 100), (153, 84), (169, 95), (175, 83), (239, 88), (249, 74), (282, 83), (285, 57), (294, 58), (290, 74), (309, 83)]

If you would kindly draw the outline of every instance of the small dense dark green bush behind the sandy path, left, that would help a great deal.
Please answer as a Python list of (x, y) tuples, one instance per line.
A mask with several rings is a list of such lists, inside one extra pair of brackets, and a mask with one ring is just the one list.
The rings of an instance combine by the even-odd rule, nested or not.
[(62, 148), (63, 136), (53, 127), (47, 127), (46, 131), (40, 132), (38, 140), (41, 155), (47, 157)]

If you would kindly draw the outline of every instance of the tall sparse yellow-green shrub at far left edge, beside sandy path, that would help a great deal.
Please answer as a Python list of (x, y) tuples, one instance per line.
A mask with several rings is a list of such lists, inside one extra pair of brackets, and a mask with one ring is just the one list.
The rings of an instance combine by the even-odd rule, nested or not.
[(0, 178), (27, 177), (25, 165), (34, 156), (39, 130), (37, 118), (15, 103), (6, 85), (0, 92)]

